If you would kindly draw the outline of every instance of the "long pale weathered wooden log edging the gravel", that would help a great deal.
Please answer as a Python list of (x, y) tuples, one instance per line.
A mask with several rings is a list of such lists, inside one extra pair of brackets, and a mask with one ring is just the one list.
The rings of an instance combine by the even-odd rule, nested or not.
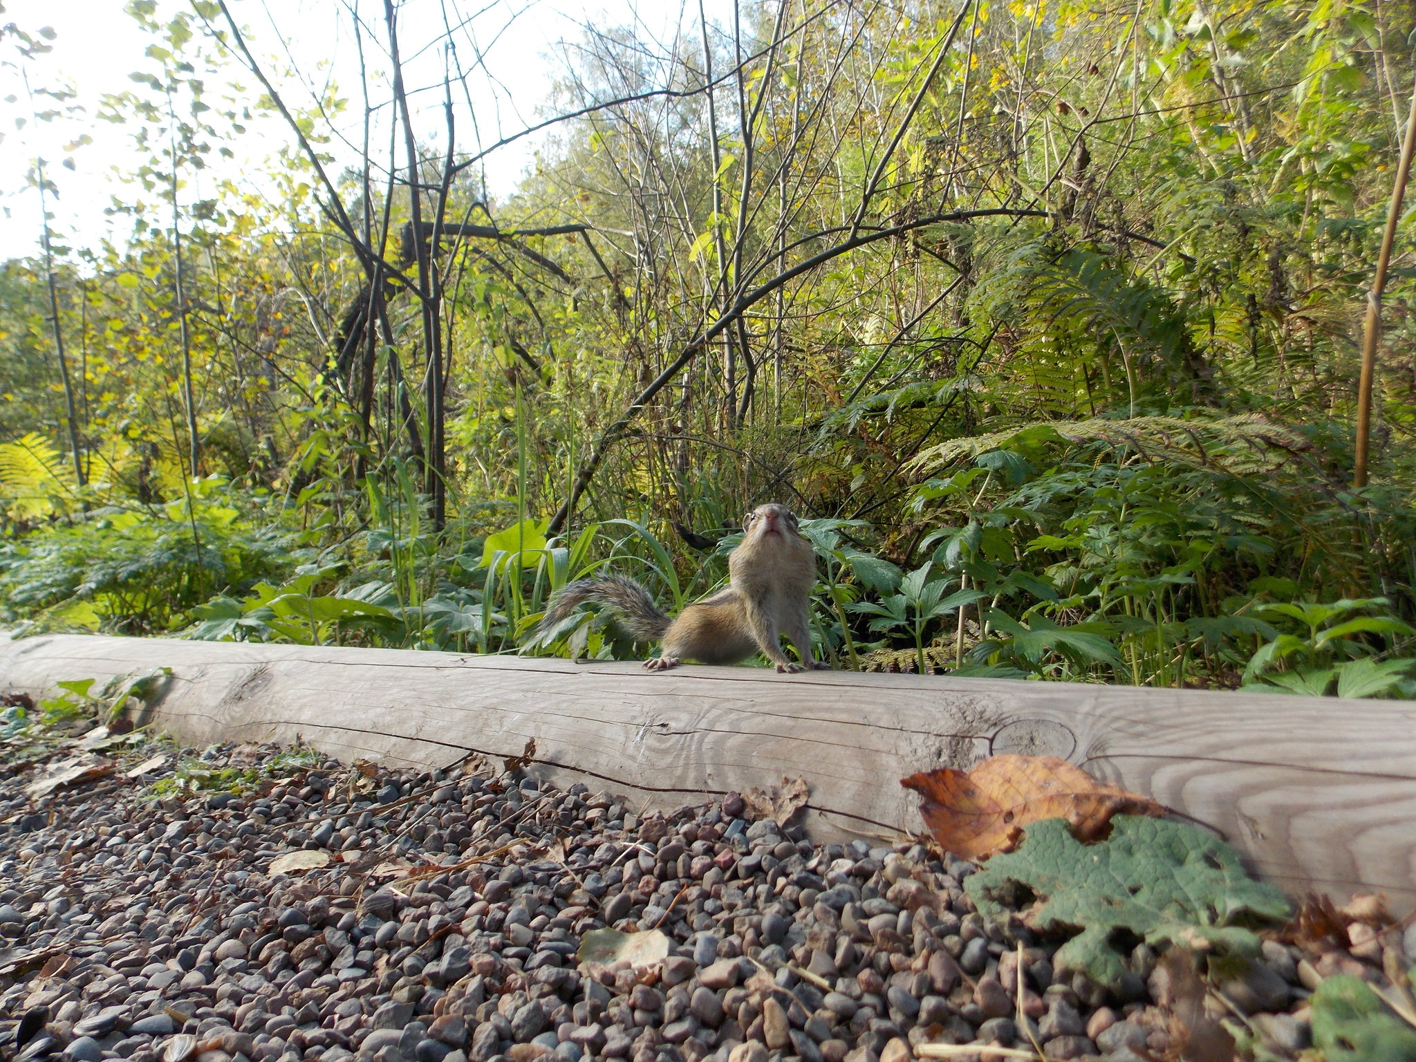
[(45, 636), (0, 643), (0, 687), (48, 694), (173, 668), (156, 722), (190, 743), (303, 738), (341, 759), (447, 766), (537, 742), (537, 773), (671, 807), (803, 775), (818, 837), (918, 831), (898, 779), (1054, 753), (1221, 830), (1294, 892), (1416, 906), (1416, 707), (919, 675)]

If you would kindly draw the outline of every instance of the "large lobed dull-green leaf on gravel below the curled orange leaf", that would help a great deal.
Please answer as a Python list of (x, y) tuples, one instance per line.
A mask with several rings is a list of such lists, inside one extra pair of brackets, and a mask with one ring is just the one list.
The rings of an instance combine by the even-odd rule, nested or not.
[[(1032, 823), (1017, 851), (994, 855), (964, 889), (984, 918), (1001, 918), (998, 896), (1031, 891), (1034, 929), (1080, 929), (1058, 949), (1059, 970), (1082, 970), (1119, 988), (1126, 976), (1119, 937), (1180, 943), (1195, 950), (1253, 956), (1259, 937), (1243, 920), (1281, 920), (1289, 901), (1253, 881), (1239, 854), (1184, 823), (1116, 816), (1106, 841), (1083, 845), (1062, 818)], [(1124, 930), (1124, 932), (1119, 932)]]

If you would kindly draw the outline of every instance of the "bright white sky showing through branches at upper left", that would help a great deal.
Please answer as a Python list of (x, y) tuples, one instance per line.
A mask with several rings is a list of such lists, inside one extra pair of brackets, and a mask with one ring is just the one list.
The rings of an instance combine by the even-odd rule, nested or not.
[[(350, 125), (346, 132), (357, 142), (361, 136), (357, 118), (361, 113), (361, 91), (346, 4), (341, 0), (228, 1), (238, 23), (249, 30), (248, 42), (268, 74), (273, 75), (279, 67), (290, 67), (287, 57), (293, 57), (293, 65), (312, 82), (334, 78), (340, 95), (350, 102)], [(399, 7), (399, 47), (405, 81), (411, 93), (419, 85), (438, 82), (442, 74), (442, 50), (423, 47), (440, 37), (445, 13), (455, 21), (470, 20), (470, 37), (483, 50), (490, 76), (467, 78), (467, 93), (477, 110), (481, 139), (490, 143), (538, 120), (538, 108), (544, 103), (552, 79), (565, 69), (566, 48), (562, 41), (573, 41), (581, 35), (579, 23), (610, 25), (640, 18), (649, 23), (641, 23), (643, 31), (663, 40), (685, 16), (681, 3), (683, 0), (404, 0)], [(14, 65), (0, 67), (0, 98), (11, 93), (18, 96), (14, 103), (0, 102), (0, 133), (4, 135), (0, 142), (0, 258), (38, 253), (38, 194), (25, 188), (24, 181), (25, 170), (35, 156), (45, 157), (50, 176), (59, 187), (58, 200), (50, 201), (57, 239), (74, 246), (95, 246), (106, 232), (120, 238), (127, 222), (106, 217), (103, 210), (113, 194), (126, 198), (137, 194), (115, 181), (113, 173), (136, 167), (139, 154), (132, 146), (129, 126), (101, 122), (93, 115), (103, 93), (139, 88), (129, 79), (129, 72), (160, 72), (159, 65), (143, 55), (143, 50), (156, 42), (154, 38), (123, 13), (123, 0), (0, 0), (0, 6), (4, 8), (0, 24), (14, 23), (31, 34), (44, 25), (54, 28), (54, 51), (28, 62), (31, 85), (69, 84), (78, 89), (76, 102), (85, 108), (82, 115), (38, 126), (30, 122), (17, 130), (13, 119), (27, 115), (28, 105)], [(724, 6), (722, 0), (714, 0), (708, 8), (712, 13)], [(381, 30), (381, 0), (360, 0), (360, 7), (365, 20), (378, 18), (375, 28)], [(159, 0), (160, 14), (176, 8), (177, 0)], [(692, 16), (697, 17), (697, 4), (692, 6)], [(276, 27), (286, 38), (287, 54)], [(17, 59), (8, 44), (0, 47), (10, 52), (0, 55), (0, 61)], [(387, 68), (372, 47), (365, 38), (370, 67)], [(457, 50), (463, 67), (470, 67), (472, 40), (467, 35), (459, 38)], [(235, 71), (234, 76), (246, 86), (255, 85), (255, 78), (245, 71)], [(310, 101), (307, 88), (297, 81), (276, 78), (276, 86), (295, 108)], [(217, 88), (208, 84), (208, 98), (217, 95)], [(419, 140), (436, 143), (442, 133), (440, 92), (413, 95), (412, 99), (415, 108), (419, 101), (429, 108), (422, 116), (413, 116)], [(379, 101), (375, 98), (377, 102)], [(457, 140), (459, 147), (466, 149), (473, 137), (466, 96), (462, 101), (455, 98), (455, 102), (463, 105), (457, 113)], [(62, 144), (81, 133), (92, 136), (93, 143), (74, 153), (75, 170), (61, 169), (58, 163), (64, 159)], [(255, 125), (251, 133), (232, 144), (238, 156), (235, 163), (212, 159), (212, 170), (208, 173), (251, 180), (249, 174), (259, 174), (265, 159), (289, 142), (292, 139), (283, 125), (275, 120)], [(489, 156), (484, 166), (494, 194), (514, 187), (541, 142), (539, 136), (525, 137)], [(382, 143), (387, 144), (387, 132)], [(341, 164), (353, 161), (353, 154), (336, 146), (330, 150), (338, 159), (333, 167), (334, 174)], [(227, 169), (222, 170), (222, 166)], [(200, 187), (202, 177), (187, 174), (187, 180), (188, 185), (180, 193), (183, 202), (204, 198)]]

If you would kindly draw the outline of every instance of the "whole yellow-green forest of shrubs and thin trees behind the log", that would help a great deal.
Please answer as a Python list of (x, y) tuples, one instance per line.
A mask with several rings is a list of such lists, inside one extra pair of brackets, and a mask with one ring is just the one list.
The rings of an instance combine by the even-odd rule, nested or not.
[(0, 30), (142, 157), (0, 263), (8, 626), (633, 657), (548, 595), (780, 500), (840, 667), (1416, 695), (1405, 215), (1352, 486), (1410, 6), (691, 4), (565, 42), (510, 194), (456, 4), (331, 3), (350, 85), (246, 10), (132, 0), (96, 115)]

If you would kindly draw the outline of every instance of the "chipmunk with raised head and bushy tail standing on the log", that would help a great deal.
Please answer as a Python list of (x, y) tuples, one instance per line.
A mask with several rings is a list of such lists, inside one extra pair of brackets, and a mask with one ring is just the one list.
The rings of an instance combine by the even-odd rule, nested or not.
[[(619, 610), (636, 641), (658, 640), (658, 657), (644, 661), (649, 671), (667, 671), (681, 660), (701, 664), (735, 664), (762, 650), (777, 671), (830, 668), (811, 660), (807, 633), (807, 600), (816, 582), (816, 552), (797, 531), (797, 518), (786, 506), (759, 506), (742, 521), (746, 532), (728, 556), (731, 582), (668, 617), (637, 582), (624, 575), (578, 579), (566, 583), (551, 602), (541, 629), (564, 620), (586, 600)], [(800, 664), (782, 651), (779, 636), (796, 646)]]

